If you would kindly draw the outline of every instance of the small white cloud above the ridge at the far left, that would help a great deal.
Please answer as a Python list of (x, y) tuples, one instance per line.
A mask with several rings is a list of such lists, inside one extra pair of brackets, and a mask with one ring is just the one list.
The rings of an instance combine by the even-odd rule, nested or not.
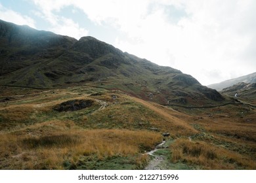
[(30, 27), (35, 28), (35, 21), (28, 17), (24, 16), (18, 12), (14, 12), (9, 8), (3, 7), (0, 3), (0, 19), (5, 20), (7, 22), (12, 22), (18, 25), (29, 25)]

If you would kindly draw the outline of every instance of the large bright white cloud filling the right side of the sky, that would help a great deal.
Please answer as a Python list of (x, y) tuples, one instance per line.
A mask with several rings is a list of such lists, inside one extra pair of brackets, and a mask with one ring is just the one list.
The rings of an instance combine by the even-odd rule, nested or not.
[[(252, 8), (256, 7), (255, 1), (171, 2), (161, 3), (182, 8), (187, 16), (181, 17), (176, 24), (170, 24), (163, 8), (155, 8), (140, 27), (126, 29), (131, 37), (137, 32), (140, 42), (135, 45), (127, 43), (126, 39), (117, 39), (116, 45), (139, 56), (148, 56), (160, 65), (181, 69), (198, 78), (202, 84), (256, 70), (256, 56), (252, 51), (255, 48), (253, 30), (256, 22)], [(210, 73), (218, 70), (220, 74), (215, 77), (202, 70)]]

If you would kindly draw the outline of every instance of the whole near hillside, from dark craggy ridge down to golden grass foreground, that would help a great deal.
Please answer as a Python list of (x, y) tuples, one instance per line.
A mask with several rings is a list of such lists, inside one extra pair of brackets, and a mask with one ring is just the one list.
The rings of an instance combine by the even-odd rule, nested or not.
[(1, 20), (0, 53), (0, 169), (256, 169), (255, 84)]

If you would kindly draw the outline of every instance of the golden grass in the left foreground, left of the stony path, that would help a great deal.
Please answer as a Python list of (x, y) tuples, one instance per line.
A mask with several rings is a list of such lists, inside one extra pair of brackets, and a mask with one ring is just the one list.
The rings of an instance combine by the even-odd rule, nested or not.
[[(71, 129), (48, 135), (0, 136), (0, 169), (64, 169), (64, 161), (77, 163), (82, 156), (103, 159), (136, 156), (161, 141), (161, 135), (148, 131), (117, 129)], [(139, 156), (138, 165), (146, 158)]]

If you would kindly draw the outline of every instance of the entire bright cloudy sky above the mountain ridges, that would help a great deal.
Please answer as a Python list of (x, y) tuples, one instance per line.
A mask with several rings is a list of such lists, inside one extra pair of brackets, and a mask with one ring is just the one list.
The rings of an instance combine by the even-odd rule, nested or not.
[(0, 0), (0, 19), (93, 36), (203, 85), (256, 72), (255, 0)]

